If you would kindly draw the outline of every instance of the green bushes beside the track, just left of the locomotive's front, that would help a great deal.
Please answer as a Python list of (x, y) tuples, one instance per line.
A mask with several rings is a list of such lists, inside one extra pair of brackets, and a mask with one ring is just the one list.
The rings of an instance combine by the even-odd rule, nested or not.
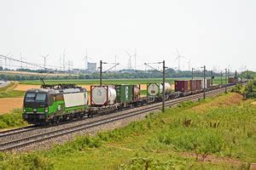
[(22, 118), (21, 109), (15, 109), (8, 114), (0, 115), (0, 129), (9, 127), (26, 126), (27, 122)]

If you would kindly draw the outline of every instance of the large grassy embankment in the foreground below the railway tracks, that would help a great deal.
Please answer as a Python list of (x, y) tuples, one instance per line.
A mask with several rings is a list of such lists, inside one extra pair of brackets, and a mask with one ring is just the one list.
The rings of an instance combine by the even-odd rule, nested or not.
[[(256, 162), (256, 105), (239, 94), (186, 102), (51, 150), (0, 155), (0, 168), (247, 169)], [(204, 160), (204, 161), (203, 161)]]

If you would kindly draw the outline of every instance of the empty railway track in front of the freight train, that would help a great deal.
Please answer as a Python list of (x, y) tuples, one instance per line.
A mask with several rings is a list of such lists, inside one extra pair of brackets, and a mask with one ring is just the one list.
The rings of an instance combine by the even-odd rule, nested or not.
[[(212, 95), (221, 94), (223, 92), (224, 92), (224, 88), (212, 90), (212, 91), (207, 92), (207, 97), (210, 97)], [(183, 101), (201, 99), (202, 96), (203, 96), (203, 94), (194, 94), (194, 95), (189, 95), (189, 96), (186, 96), (183, 98), (167, 100), (166, 106), (177, 105)], [(77, 133), (79, 131), (89, 129), (91, 127), (98, 127), (98, 126), (108, 124), (111, 122), (118, 122), (119, 120), (122, 120), (122, 119), (125, 119), (128, 117), (132, 117), (132, 116), (142, 115), (142, 114), (145, 114), (145, 113), (148, 113), (151, 111), (159, 111), (160, 106), (161, 106), (161, 103), (157, 103), (157, 104), (153, 104), (153, 105), (144, 105), (142, 107), (139, 107), (140, 108), (139, 110), (136, 110), (136, 109), (127, 110), (124, 113), (121, 113), (121, 114), (118, 114), (115, 116), (109, 115), (105, 118), (101, 118), (96, 121), (85, 122), (85, 123), (73, 125), (70, 127), (63, 127), (63, 128), (49, 131), (49, 132), (36, 133), (36, 134), (22, 137), (20, 139), (11, 139), (9, 141), (5, 141), (0, 144), (0, 151), (23, 148), (30, 144), (39, 143), (44, 140), (54, 139), (54, 138), (57, 138), (57, 137), (60, 137), (60, 136), (66, 135), (66, 134), (70, 134), (70, 133)], [(28, 131), (33, 131), (33, 130), (34, 129), (28, 129)], [(22, 130), (21, 130), (21, 132), (22, 132)], [(14, 131), (13, 134), (14, 133), (17, 134), (17, 133), (19, 133), (19, 131), (17, 131), (17, 132)], [(13, 134), (11, 132), (9, 132), (9, 135), (13, 135)], [(6, 133), (5, 136), (8, 136), (8, 133)], [(0, 139), (1, 138), (3, 138), (3, 136), (0, 135)]]

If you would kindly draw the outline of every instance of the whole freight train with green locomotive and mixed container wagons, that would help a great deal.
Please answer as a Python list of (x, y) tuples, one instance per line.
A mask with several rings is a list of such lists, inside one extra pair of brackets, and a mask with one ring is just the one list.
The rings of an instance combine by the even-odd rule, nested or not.
[[(165, 83), (165, 89), (160, 82), (148, 82), (146, 96), (140, 94), (140, 85), (90, 86), (89, 105), (85, 88), (77, 87), (74, 84), (42, 85), (39, 89), (26, 91), (23, 118), (29, 123), (44, 125), (148, 105), (162, 101), (163, 93), (166, 100), (201, 93), (204, 81), (175, 81), (174, 86), (175, 91), (172, 92), (168, 82)], [(210, 80), (207, 79), (205, 88), (211, 90), (221, 87), (210, 86)]]

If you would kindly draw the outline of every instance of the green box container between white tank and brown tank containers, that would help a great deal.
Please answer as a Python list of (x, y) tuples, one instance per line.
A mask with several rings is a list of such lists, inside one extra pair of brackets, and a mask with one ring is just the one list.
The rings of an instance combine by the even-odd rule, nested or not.
[(132, 101), (132, 85), (120, 84), (116, 85), (117, 101), (119, 103), (127, 103)]

